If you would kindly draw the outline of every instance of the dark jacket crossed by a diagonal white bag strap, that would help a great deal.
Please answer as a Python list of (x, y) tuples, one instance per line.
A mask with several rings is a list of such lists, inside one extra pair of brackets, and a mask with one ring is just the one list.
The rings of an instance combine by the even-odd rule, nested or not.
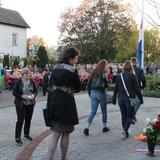
[[(136, 96), (140, 100), (140, 103), (143, 103), (143, 98), (142, 94), (136, 79), (136, 76), (132, 73), (123, 73), (123, 79), (126, 85), (126, 88), (129, 92), (130, 98), (135, 98)], [(126, 90), (124, 89), (123, 82), (121, 79), (120, 74), (118, 74), (116, 78), (116, 83), (115, 83), (115, 89), (114, 89), (114, 94), (113, 94), (113, 104), (116, 104), (116, 97), (128, 97)], [(129, 97), (128, 97), (129, 98)]]

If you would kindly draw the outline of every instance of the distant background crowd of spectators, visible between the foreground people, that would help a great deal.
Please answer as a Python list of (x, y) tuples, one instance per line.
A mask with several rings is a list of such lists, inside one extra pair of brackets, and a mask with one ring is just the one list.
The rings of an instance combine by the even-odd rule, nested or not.
[[(78, 64), (77, 70), (78, 75), (80, 77), (81, 82), (81, 90), (87, 89), (87, 84), (89, 80), (90, 73), (95, 68), (96, 64)], [(31, 71), (31, 78), (34, 80), (35, 85), (37, 88), (43, 90), (43, 95), (46, 95), (47, 92), (47, 86), (49, 81), (49, 75), (52, 72), (52, 69), (54, 67), (53, 64), (47, 64), (45, 69), (43, 71), (39, 71), (38, 67), (36, 65), (26, 66)], [(5, 66), (1, 69), (1, 74), (3, 75), (3, 84), (5, 89), (12, 90), (13, 86), (17, 79), (21, 77), (21, 69), (24, 67), (14, 67), (13, 69), (11, 67)], [(108, 74), (108, 83), (114, 84), (116, 76), (122, 71), (122, 64), (110, 64), (109, 66), (110, 72)], [(158, 71), (158, 66), (155, 63), (151, 63), (151, 65), (147, 65), (144, 67), (144, 73), (145, 74), (151, 74), (155, 75)]]

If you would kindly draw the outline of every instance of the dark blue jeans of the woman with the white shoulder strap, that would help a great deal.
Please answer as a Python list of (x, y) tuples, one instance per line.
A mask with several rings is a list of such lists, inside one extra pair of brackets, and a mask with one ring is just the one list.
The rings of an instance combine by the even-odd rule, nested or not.
[(128, 131), (131, 125), (131, 120), (133, 115), (133, 110), (130, 105), (130, 100), (128, 97), (118, 97), (118, 104), (122, 115), (123, 130)]

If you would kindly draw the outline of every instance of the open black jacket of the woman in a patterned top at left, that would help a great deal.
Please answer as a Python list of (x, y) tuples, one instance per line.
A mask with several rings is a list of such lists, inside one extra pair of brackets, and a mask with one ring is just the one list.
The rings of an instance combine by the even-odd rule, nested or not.
[[(38, 91), (37, 91), (35, 83), (34, 83), (34, 81), (32, 79), (30, 79), (30, 83), (33, 85), (33, 92), (32, 92), (32, 94), (34, 94), (35, 96), (37, 96)], [(19, 107), (22, 106), (22, 103), (23, 103), (23, 99), (21, 98), (22, 95), (23, 95), (23, 83), (22, 83), (22, 79), (18, 79), (16, 81), (14, 87), (13, 87), (13, 96), (15, 96), (14, 104), (16, 106), (19, 106)]]

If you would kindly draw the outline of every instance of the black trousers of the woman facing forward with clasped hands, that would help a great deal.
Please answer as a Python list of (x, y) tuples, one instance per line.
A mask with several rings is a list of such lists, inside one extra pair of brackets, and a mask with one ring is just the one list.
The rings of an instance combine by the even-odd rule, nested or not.
[(34, 110), (33, 105), (29, 105), (29, 106), (22, 105), (22, 107), (20, 107), (19, 105), (16, 106), (16, 113), (17, 113), (17, 122), (16, 122), (16, 129), (15, 129), (16, 139), (21, 137), (24, 121), (25, 121), (24, 135), (29, 135), (33, 110)]

